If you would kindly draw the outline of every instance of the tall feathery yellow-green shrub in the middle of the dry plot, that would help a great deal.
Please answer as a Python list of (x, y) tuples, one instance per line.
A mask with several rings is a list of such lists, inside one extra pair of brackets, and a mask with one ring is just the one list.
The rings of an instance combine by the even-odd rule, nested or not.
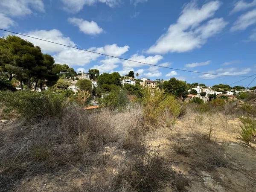
[(164, 94), (164, 90), (143, 90), (143, 119), (148, 128), (171, 125), (180, 113), (180, 104), (174, 96)]

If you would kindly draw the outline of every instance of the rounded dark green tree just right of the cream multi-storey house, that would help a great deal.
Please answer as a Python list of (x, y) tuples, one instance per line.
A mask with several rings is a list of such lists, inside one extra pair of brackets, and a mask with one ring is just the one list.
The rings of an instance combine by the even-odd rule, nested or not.
[(186, 81), (181, 81), (173, 77), (169, 81), (164, 81), (161, 88), (165, 89), (166, 93), (171, 93), (181, 99), (188, 95), (189, 86), (186, 84)]

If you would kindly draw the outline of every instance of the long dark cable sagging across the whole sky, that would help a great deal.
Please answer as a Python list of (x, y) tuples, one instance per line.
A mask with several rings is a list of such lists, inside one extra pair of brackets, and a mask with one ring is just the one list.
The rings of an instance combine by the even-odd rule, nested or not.
[(69, 45), (59, 44), (59, 43), (56, 43), (56, 42), (53, 42), (53, 41), (48, 41), (48, 40), (41, 39), (41, 38), (35, 38), (35, 37), (29, 36), (29, 35), (24, 35), (24, 34), (21, 34), (21, 33), (12, 32), (12, 31), (5, 30), (5, 29), (0, 29), (0, 30), (10, 32), (10, 33), (13, 33), (13, 34), (17, 34), (17, 35), (22, 35), (22, 36), (33, 38), (33, 39), (38, 39), (38, 40), (41, 40), (41, 41), (46, 41), (46, 42), (61, 45), (61, 46), (64, 46), (64, 47), (70, 47), (70, 48), (73, 48), (73, 49), (79, 49), (79, 50), (82, 50), (82, 51), (95, 53), (95, 54), (98, 54), (98, 55), (103, 55), (103, 56), (112, 57), (112, 58), (118, 58), (118, 59), (121, 59), (121, 60), (124, 60), (124, 61), (131, 61), (131, 62), (145, 64), (145, 65), (151, 65), (151, 66), (155, 66), (155, 67), (162, 67), (162, 68), (171, 69), (171, 70), (184, 71), (184, 72), (189, 72), (189, 73), (200, 73), (200, 74), (214, 75), (214, 76), (251, 77), (251, 76), (235, 76), (235, 75), (222, 75), (222, 74), (215, 74), (215, 73), (204, 73), (204, 72), (198, 72), (198, 71), (182, 70), (182, 69), (177, 69), (177, 68), (172, 68), (172, 67), (164, 67), (164, 66), (160, 66), (160, 65), (149, 64), (149, 63), (134, 61), (134, 60), (126, 59), (126, 58), (116, 57), (116, 56), (113, 56), (113, 55), (107, 55), (107, 54), (104, 54), (104, 53), (94, 52), (94, 51), (90, 51), (90, 50), (87, 50), (87, 49), (81, 49), (81, 48), (77, 48), (77, 47), (73, 47), (73, 46), (69, 46)]

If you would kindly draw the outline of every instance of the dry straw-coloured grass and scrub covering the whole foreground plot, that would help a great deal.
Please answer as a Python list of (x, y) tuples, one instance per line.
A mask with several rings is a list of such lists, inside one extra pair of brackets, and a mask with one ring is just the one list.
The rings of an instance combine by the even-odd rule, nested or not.
[(239, 134), (234, 114), (202, 111), (186, 105), (175, 125), (157, 120), (151, 129), (140, 105), (122, 113), (68, 106), (58, 117), (14, 122), (0, 133), (0, 189), (186, 191), (201, 171), (230, 168), (223, 142)]

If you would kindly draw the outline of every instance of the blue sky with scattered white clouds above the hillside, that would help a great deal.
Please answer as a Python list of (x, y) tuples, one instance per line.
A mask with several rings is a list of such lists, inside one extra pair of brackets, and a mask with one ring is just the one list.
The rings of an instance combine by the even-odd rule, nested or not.
[[(161, 66), (256, 73), (256, 0), (1, 0), (0, 28)], [(149, 79), (176, 77), (207, 85), (243, 79), (150, 67), (26, 39), (75, 70), (122, 75), (134, 70)]]

